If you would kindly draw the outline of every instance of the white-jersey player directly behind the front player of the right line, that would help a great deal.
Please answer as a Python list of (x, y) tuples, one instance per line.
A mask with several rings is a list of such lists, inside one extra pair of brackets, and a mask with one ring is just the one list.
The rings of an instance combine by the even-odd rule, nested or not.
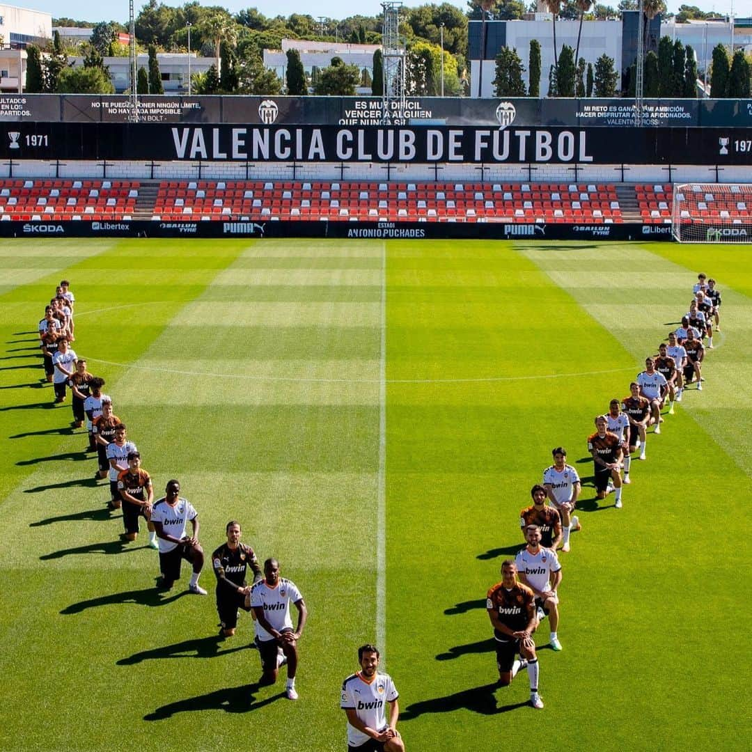
[(562, 566), (555, 551), (541, 546), (541, 531), (537, 525), (528, 525), (526, 533), (527, 545), (514, 558), (517, 577), (535, 593), (535, 605), (548, 615), (550, 645), (553, 650), (561, 650), (556, 634), (559, 628), (559, 595), (556, 591), (562, 581)]

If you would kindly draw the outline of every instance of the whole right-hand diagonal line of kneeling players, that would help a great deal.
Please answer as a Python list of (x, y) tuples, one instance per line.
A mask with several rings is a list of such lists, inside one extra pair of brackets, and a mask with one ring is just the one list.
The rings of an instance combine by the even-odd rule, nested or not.
[[(614, 493), (614, 507), (622, 508), (622, 490), (630, 483), (632, 454), (647, 459), (647, 429), (660, 435), (661, 409), (681, 402), (684, 390), (696, 384), (702, 390), (702, 362), (713, 347), (713, 332), (720, 329), (720, 293), (715, 280), (699, 274), (690, 310), (681, 326), (669, 332), (656, 355), (645, 359), (645, 369), (629, 384), (629, 396), (612, 399), (608, 412), (595, 418), (596, 431), (587, 437), (593, 456), (596, 498)], [(538, 693), (538, 656), (533, 635), (544, 617), (550, 623), (550, 647), (562, 650), (558, 636), (559, 584), (561, 564), (556, 550), (569, 552), (570, 534), (581, 529), (574, 514), (581, 481), (577, 470), (566, 462), (566, 450), (552, 451), (553, 465), (543, 474), (543, 483), (532, 487), (532, 505), (520, 511), (520, 526), (526, 546), (515, 559), (502, 563), (502, 581), (487, 593), (486, 608), (494, 631), (499, 684), (511, 684), (526, 668), (530, 682), (530, 703), (543, 708)], [(623, 478), (622, 478), (623, 470)], [(550, 505), (547, 504), (550, 502)]]

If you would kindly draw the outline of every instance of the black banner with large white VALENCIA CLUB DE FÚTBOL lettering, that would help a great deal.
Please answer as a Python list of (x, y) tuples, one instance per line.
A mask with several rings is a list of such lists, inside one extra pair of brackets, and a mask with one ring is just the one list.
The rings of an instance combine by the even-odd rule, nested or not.
[(5, 159), (752, 165), (752, 128), (6, 123)]

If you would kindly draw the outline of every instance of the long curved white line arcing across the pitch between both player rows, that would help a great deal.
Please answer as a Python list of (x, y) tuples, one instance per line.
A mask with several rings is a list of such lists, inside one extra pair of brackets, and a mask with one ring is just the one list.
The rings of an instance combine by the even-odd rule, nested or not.
[[(386, 300), (386, 293), (384, 293)], [(386, 308), (386, 305), (384, 306)], [(503, 381), (538, 381), (550, 378), (578, 378), (581, 376), (600, 376), (602, 374), (616, 374), (624, 371), (634, 371), (636, 365), (627, 368), (609, 368), (606, 371), (581, 371), (574, 374), (535, 374), (534, 376), (490, 376), (481, 378), (392, 378), (387, 379), (385, 365), (386, 351), (386, 326), (382, 327), (382, 363), (381, 378), (299, 378), (293, 376), (253, 376), (250, 374), (233, 374), (233, 378), (247, 381), (284, 381), (296, 384), (383, 384), (386, 390), (387, 384), (493, 384)], [(226, 373), (211, 373), (211, 371), (186, 371), (182, 368), (160, 368), (159, 365), (136, 365), (135, 363), (120, 363), (115, 360), (102, 360), (101, 358), (88, 358), (91, 363), (103, 365), (117, 365), (120, 368), (136, 368), (139, 371), (156, 371), (165, 374), (178, 374), (180, 376), (200, 376), (202, 378), (227, 378)]]

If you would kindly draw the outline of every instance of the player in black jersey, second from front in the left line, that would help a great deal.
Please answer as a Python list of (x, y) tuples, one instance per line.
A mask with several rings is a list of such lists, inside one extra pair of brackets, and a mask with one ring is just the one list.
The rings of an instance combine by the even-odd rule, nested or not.
[(259, 560), (253, 548), (240, 542), (241, 525), (231, 520), (225, 527), (227, 542), (211, 554), (211, 565), (217, 575), (217, 613), (220, 615), (220, 636), (232, 637), (238, 626), (238, 608), (250, 611), (245, 596), (250, 586), (245, 578), (248, 567), (253, 572), (253, 584), (262, 579)]

